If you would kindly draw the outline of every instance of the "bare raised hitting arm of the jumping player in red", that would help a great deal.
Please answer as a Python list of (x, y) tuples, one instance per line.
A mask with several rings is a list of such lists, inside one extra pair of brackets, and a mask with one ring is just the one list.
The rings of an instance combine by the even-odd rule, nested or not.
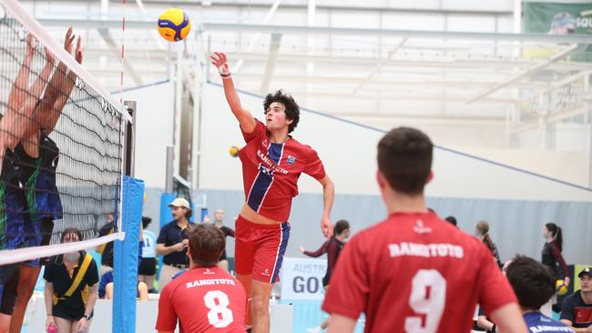
[(209, 55), (209, 58), (212, 65), (218, 68), (219, 74), (222, 76), (224, 95), (229, 103), (230, 110), (232, 110), (232, 114), (239, 120), (242, 130), (245, 133), (251, 133), (257, 123), (250, 111), (240, 105), (240, 98), (234, 87), (234, 82), (232, 82), (232, 76), (230, 76), (230, 68), (226, 55), (221, 52), (214, 52), (213, 55)]

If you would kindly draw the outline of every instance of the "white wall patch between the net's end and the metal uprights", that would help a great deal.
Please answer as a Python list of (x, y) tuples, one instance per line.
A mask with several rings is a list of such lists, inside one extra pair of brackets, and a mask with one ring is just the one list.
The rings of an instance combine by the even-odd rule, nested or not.
[(125, 100), (135, 100), (136, 177), (146, 187), (165, 187), (167, 146), (172, 142), (174, 97), (170, 82), (145, 86), (124, 93)]

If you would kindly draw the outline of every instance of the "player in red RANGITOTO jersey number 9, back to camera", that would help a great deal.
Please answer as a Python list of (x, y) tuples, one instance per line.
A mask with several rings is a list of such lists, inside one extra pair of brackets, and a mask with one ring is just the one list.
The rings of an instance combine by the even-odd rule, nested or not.
[(378, 144), (376, 178), (389, 217), (343, 248), (322, 309), (329, 332), (469, 332), (479, 303), (503, 332), (526, 332), (489, 250), (425, 207), (434, 145), (399, 127)]

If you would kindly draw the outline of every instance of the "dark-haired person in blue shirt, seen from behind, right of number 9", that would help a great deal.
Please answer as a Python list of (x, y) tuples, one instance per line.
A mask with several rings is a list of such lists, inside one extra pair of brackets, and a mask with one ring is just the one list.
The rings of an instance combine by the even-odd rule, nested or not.
[(514, 288), (530, 332), (573, 332), (566, 324), (546, 317), (540, 308), (555, 294), (555, 278), (535, 259), (515, 257), (505, 271)]

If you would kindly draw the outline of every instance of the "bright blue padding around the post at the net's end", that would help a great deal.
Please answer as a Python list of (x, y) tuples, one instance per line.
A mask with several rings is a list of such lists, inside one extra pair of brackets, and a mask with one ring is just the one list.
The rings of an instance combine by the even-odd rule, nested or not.
[(114, 244), (113, 333), (136, 331), (139, 231), (144, 204), (144, 181), (123, 177), (121, 223), (126, 238)]

